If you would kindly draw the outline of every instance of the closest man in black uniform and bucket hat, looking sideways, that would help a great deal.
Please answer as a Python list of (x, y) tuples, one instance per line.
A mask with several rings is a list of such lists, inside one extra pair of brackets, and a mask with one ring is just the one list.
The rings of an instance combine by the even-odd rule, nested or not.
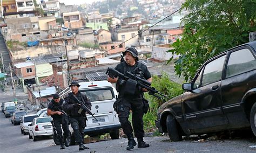
[[(123, 52), (125, 56), (125, 62), (121, 62), (116, 66), (116, 70), (120, 73), (125, 74), (125, 72), (131, 72), (137, 77), (146, 79), (151, 82), (151, 74), (147, 69), (146, 65), (138, 62), (138, 51), (135, 48), (127, 48), (125, 52)], [(116, 76), (117, 77), (117, 76)], [(118, 117), (123, 128), (124, 133), (128, 137), (128, 145), (126, 150), (133, 149), (134, 146), (137, 145), (136, 141), (133, 138), (133, 130), (134, 135), (138, 140), (138, 148), (146, 148), (149, 147), (149, 144), (143, 141), (144, 130), (143, 130), (143, 97), (142, 93), (147, 92), (144, 88), (136, 87), (134, 93), (131, 94), (132, 87), (127, 84), (125, 80), (122, 78), (107, 78), (107, 81), (111, 83), (117, 83), (117, 91), (118, 95)], [(130, 109), (132, 110), (132, 126), (129, 119)]]

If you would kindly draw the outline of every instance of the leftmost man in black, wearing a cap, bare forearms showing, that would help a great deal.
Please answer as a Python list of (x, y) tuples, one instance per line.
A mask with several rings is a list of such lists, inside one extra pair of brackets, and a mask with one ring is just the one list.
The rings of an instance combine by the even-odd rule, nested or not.
[[(58, 94), (54, 94), (53, 99), (48, 105), (47, 114), (51, 115), (53, 119), (53, 123), (57, 131), (57, 137), (60, 143), (60, 149), (65, 149), (63, 139), (65, 146), (69, 147), (69, 144), (66, 141), (66, 139), (69, 137), (69, 123), (67, 116), (63, 115), (63, 113), (59, 111), (62, 110), (62, 104), (63, 100), (59, 98)], [(62, 125), (62, 128), (60, 128), (60, 124)], [(64, 138), (62, 135), (62, 129), (64, 131)]]

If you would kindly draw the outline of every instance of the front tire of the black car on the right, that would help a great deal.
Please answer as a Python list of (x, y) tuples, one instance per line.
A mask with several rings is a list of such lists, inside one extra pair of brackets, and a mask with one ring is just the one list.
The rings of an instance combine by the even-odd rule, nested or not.
[(172, 115), (168, 115), (166, 119), (166, 127), (170, 140), (180, 141), (182, 139), (180, 130), (178, 129), (177, 122)]

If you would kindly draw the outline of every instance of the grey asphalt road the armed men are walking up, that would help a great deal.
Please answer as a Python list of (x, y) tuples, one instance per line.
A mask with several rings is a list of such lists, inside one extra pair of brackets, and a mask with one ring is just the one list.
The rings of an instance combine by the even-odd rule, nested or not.
[[(137, 148), (132, 152), (256, 152), (253, 138), (232, 138), (232, 140), (210, 140), (198, 142), (197, 140), (186, 140), (170, 142), (167, 136), (145, 137), (144, 140), (150, 144), (149, 148)], [(127, 140), (103, 140), (96, 143), (85, 144), (90, 147), (83, 152), (127, 152)], [(78, 151), (78, 145), (70, 146), (60, 150), (59, 145), (53, 143), (52, 137), (44, 137), (33, 142), (28, 135), (21, 134), (19, 126), (14, 126), (10, 118), (6, 119), (0, 113), (0, 152), (82, 152)]]

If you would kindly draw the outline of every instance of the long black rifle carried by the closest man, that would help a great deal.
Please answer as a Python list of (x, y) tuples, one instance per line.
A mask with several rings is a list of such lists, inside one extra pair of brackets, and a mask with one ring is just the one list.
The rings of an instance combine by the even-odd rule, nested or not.
[(124, 79), (126, 82), (132, 82), (130, 85), (134, 85), (134, 86), (140, 86), (142, 88), (147, 89), (147, 91), (149, 91), (150, 95), (155, 96), (158, 99), (161, 99), (160, 96), (163, 96), (164, 98), (166, 98), (166, 96), (164, 94), (159, 93), (154, 87), (150, 87), (151, 86), (151, 82), (139, 78), (136, 75), (132, 74), (131, 72), (126, 72), (125, 74), (118, 72), (116, 69), (113, 68), (107, 68), (106, 74), (109, 75), (110, 78), (114, 79), (114, 76), (117, 76), (119, 78)]

